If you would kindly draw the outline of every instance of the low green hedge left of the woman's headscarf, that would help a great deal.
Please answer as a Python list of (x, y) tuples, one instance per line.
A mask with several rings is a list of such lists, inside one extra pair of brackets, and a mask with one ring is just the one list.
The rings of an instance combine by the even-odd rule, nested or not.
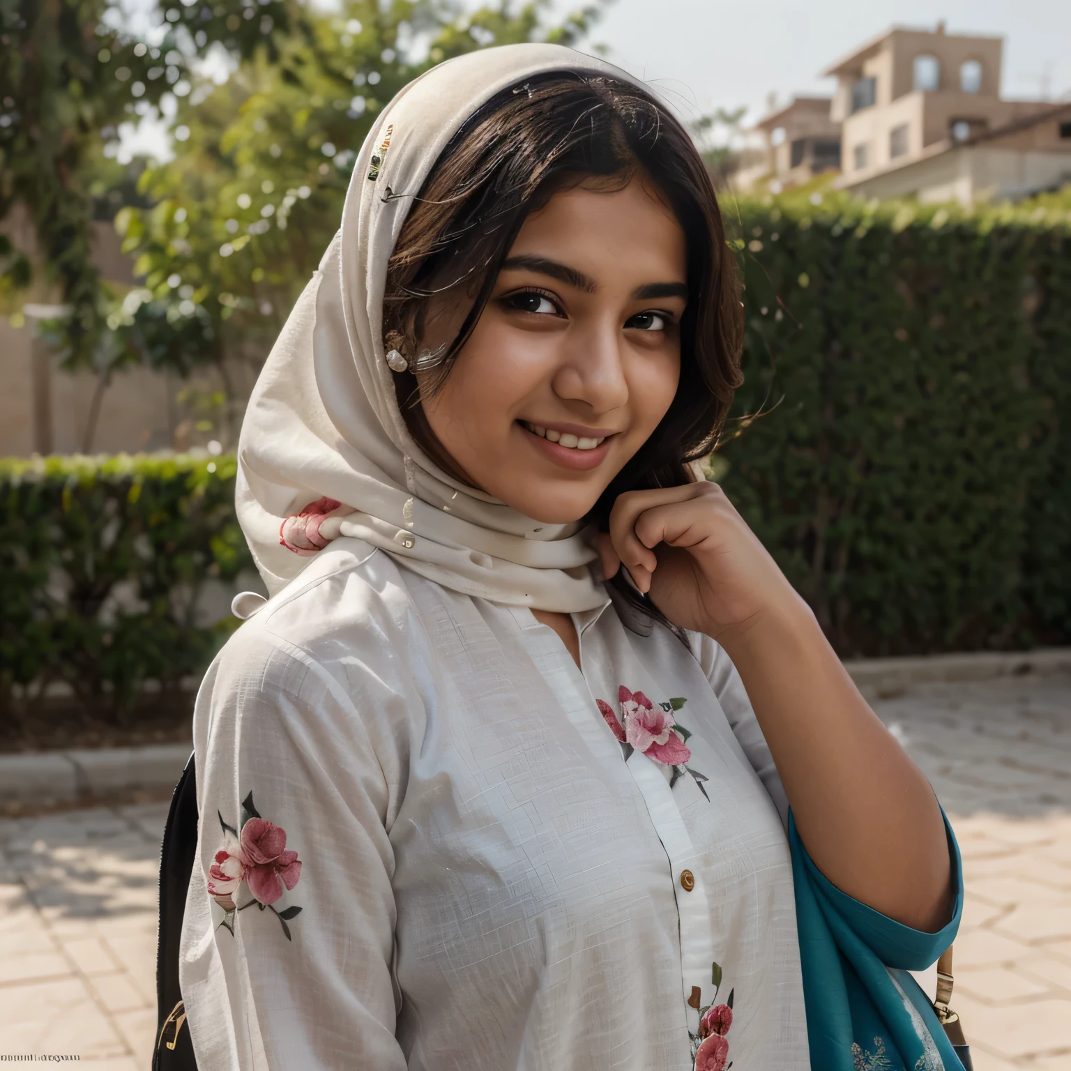
[(232, 628), (199, 594), (252, 567), (232, 457), (0, 461), (0, 711), (63, 681), (119, 716), (146, 680), (174, 693)]

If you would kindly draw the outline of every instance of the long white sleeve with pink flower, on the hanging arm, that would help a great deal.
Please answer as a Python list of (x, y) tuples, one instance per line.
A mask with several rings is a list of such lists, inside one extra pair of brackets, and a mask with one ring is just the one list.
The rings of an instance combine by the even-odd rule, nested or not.
[[(182, 993), (198, 1062), (401, 1071), (392, 786), (364, 703), (335, 667), (250, 624), (195, 718), (199, 865)], [(376, 687), (361, 698), (397, 702)]]

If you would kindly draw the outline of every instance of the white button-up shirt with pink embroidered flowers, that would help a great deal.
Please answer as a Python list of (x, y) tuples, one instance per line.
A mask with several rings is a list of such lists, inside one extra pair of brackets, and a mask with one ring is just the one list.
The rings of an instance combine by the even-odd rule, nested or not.
[(630, 613), (573, 616), (578, 668), (340, 539), (236, 633), (194, 723), (201, 1066), (685, 1071), (708, 1009), (722, 1066), (810, 1066), (769, 750), (712, 640)]

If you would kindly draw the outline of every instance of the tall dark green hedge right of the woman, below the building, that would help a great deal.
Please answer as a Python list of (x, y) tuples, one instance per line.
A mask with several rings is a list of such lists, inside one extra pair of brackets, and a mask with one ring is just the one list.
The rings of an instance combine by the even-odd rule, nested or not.
[(718, 461), (838, 649), (1071, 640), (1071, 212), (737, 209)]

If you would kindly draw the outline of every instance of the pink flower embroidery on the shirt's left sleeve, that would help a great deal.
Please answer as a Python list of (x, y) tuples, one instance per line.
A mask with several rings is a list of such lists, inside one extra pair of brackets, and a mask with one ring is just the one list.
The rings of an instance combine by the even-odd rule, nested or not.
[[(267, 907), (275, 914), (286, 939), (290, 940), (287, 920), (299, 915), (301, 908), (278, 911), (272, 906), (283, 895), (284, 888), (292, 889), (301, 878), (301, 860), (297, 851), (287, 848), (286, 830), (260, 817), (253, 804), (253, 793), (242, 800), (241, 832), (228, 826), (222, 814), (220, 826), (223, 846), (209, 866), (208, 892), (227, 912), (221, 925), (233, 933), (236, 914), (255, 904), (261, 911)], [(242, 883), (253, 899), (239, 905)]]

